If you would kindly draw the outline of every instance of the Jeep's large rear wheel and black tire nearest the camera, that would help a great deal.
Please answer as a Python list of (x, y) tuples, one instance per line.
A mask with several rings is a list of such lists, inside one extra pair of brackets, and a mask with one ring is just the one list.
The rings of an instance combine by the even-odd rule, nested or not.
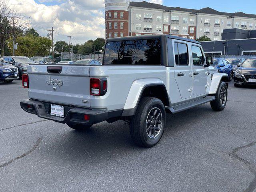
[(165, 122), (166, 112), (162, 101), (144, 97), (130, 121), (130, 135), (138, 146), (152, 147), (160, 141)]

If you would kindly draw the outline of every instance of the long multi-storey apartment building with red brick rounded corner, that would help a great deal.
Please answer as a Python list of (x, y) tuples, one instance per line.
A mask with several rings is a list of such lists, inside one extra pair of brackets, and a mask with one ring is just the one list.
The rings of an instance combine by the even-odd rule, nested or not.
[(223, 29), (256, 29), (256, 15), (167, 7), (148, 2), (105, 0), (106, 38), (171, 34), (196, 39), (206, 35), (221, 40)]

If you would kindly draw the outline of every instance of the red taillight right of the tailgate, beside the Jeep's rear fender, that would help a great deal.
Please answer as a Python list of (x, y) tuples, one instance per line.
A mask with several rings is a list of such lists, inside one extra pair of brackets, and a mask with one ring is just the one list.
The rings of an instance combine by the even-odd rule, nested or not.
[(107, 78), (90, 78), (90, 94), (102, 96), (106, 94), (108, 89)]

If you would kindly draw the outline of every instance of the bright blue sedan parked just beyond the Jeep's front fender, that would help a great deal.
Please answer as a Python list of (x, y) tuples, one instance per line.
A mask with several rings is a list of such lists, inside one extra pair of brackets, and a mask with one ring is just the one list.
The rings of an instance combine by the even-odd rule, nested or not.
[(213, 59), (213, 66), (218, 69), (220, 73), (228, 74), (228, 80), (232, 81), (233, 78), (233, 67), (229, 62), (227, 62), (223, 58), (214, 58)]

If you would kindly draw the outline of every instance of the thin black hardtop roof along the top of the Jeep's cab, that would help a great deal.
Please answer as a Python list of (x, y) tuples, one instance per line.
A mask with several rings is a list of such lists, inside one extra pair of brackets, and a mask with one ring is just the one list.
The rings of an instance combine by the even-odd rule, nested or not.
[(177, 40), (182, 40), (186, 42), (192, 42), (196, 44), (201, 44), (198, 41), (188, 39), (188, 38), (182, 38), (178, 36), (173, 36), (173, 35), (141, 35), (141, 36), (128, 36), (128, 37), (118, 37), (118, 38), (109, 38), (106, 40), (106, 43), (108, 42), (113, 42), (113, 41), (127, 41), (127, 40), (141, 40), (141, 39), (162, 39), (162, 38), (171, 38), (171, 39), (177, 39)]

